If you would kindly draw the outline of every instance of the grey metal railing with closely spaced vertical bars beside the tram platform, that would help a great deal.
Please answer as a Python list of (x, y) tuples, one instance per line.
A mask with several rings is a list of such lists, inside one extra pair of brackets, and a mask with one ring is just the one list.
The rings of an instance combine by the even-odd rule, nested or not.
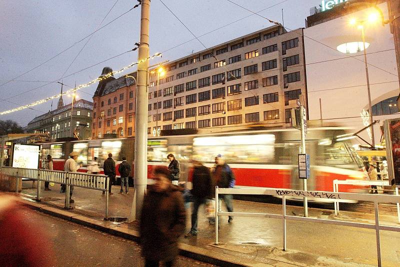
[(69, 192), (71, 186), (103, 191), (105, 192), (105, 217), (108, 217), (108, 176), (85, 172), (66, 172), (58, 170), (16, 167), (1, 167), (1, 172), (7, 176), (15, 177), (15, 192), (18, 192), (19, 178), (37, 180), (36, 201), (40, 201), (41, 181), (65, 184), (66, 209), (70, 208)]

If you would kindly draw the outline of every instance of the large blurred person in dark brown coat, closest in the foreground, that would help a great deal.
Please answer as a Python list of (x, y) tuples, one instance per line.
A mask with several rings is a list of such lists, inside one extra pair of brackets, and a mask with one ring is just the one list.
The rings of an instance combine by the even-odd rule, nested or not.
[(186, 215), (179, 186), (171, 184), (166, 166), (154, 169), (154, 184), (148, 186), (140, 219), (140, 243), (146, 267), (172, 266), (179, 253)]

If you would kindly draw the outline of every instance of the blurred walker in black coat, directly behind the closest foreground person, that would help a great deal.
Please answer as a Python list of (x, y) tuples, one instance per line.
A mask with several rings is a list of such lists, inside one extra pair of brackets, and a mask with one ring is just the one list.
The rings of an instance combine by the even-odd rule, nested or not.
[(211, 178), (209, 169), (201, 164), (200, 161), (191, 160), (190, 162), (193, 164), (193, 176), (191, 181), (193, 206), (191, 211), (191, 228), (190, 231), (185, 234), (185, 237), (197, 235), (198, 208), (215, 194), (215, 183)]

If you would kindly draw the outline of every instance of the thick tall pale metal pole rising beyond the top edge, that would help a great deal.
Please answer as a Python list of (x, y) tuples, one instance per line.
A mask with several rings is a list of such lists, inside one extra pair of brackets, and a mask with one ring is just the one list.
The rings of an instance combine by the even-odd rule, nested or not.
[[(136, 219), (140, 219), (144, 192), (147, 186), (147, 104), (148, 104), (148, 28), (150, 0), (141, 1), (140, 43), (138, 48), (135, 142), (134, 142), (134, 187), (136, 195)], [(133, 202), (132, 202), (133, 204)]]

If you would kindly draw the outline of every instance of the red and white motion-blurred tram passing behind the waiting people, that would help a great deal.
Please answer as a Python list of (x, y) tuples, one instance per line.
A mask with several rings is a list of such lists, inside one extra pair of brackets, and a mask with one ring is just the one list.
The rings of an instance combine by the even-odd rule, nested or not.
[[(361, 158), (345, 138), (343, 127), (309, 128), (306, 151), (310, 155), (308, 190), (332, 191), (334, 179), (367, 179)], [(41, 143), (41, 158), (51, 154), (54, 169), (62, 170), (67, 155), (78, 152), (86, 171), (87, 163), (97, 157), (100, 166), (113, 154), (116, 164), (126, 156), (132, 162), (134, 138), (95, 139), (70, 142)], [(156, 165), (167, 165), (168, 153), (181, 163), (181, 180), (190, 181), (190, 158), (212, 166), (216, 154), (222, 154), (236, 177), (238, 187), (274, 187), (301, 189), (298, 178), (297, 154), (300, 133), (296, 129), (248, 130), (229, 133), (171, 135), (149, 137), (147, 141), (148, 177)], [(119, 173), (117, 173), (118, 177)], [(342, 187), (343, 191), (355, 188)]]

